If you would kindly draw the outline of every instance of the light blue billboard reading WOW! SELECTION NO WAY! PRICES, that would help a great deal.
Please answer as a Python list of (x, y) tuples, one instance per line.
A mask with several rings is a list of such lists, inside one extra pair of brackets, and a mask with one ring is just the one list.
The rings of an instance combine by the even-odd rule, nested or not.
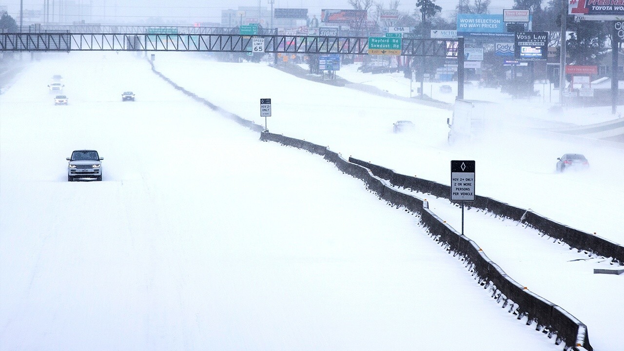
[(513, 37), (507, 32), (502, 14), (457, 14), (457, 36)]

